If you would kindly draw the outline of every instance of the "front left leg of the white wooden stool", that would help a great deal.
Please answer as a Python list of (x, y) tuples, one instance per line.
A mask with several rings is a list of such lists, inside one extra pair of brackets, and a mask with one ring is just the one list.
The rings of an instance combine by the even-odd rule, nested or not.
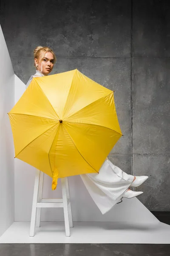
[(32, 201), (31, 225), (30, 225), (30, 235), (29, 236), (35, 235), (39, 182), (40, 182), (40, 170), (37, 169), (36, 174), (35, 174), (34, 195), (33, 195), (33, 201)]

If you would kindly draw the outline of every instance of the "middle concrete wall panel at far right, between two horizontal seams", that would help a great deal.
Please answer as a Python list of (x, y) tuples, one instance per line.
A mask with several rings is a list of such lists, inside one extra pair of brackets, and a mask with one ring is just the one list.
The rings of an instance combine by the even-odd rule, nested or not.
[(170, 154), (170, 58), (133, 59), (133, 153)]

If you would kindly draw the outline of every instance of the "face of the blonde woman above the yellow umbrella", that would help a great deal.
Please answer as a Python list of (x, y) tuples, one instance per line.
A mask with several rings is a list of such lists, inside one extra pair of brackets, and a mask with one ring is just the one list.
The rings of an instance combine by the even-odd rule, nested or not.
[[(54, 67), (54, 56), (51, 52), (45, 52), (45, 56), (37, 60), (34, 59), (36, 67), (44, 75), (48, 75)], [(38, 65), (38, 66), (37, 66)]]

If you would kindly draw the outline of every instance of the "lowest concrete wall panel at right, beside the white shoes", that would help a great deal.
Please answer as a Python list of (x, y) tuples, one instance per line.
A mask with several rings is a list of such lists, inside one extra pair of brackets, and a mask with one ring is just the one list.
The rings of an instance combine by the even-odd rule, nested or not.
[(156, 154), (133, 155), (133, 169), (136, 175), (149, 178), (141, 186), (134, 188), (143, 191), (138, 199), (150, 211), (170, 210), (170, 156)]

